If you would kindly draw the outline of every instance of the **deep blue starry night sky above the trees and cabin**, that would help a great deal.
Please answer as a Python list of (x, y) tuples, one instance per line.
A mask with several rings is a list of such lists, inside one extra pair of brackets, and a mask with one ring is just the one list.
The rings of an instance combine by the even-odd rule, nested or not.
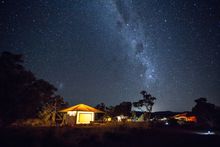
[(154, 111), (220, 105), (218, 0), (1, 0), (0, 51), (71, 105), (157, 97)]

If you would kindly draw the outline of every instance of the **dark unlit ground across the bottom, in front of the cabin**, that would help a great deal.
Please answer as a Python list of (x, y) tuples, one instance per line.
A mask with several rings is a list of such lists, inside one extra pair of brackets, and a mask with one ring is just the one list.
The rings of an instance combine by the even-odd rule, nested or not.
[(177, 128), (1, 128), (5, 146), (220, 146), (219, 135), (199, 135)]

